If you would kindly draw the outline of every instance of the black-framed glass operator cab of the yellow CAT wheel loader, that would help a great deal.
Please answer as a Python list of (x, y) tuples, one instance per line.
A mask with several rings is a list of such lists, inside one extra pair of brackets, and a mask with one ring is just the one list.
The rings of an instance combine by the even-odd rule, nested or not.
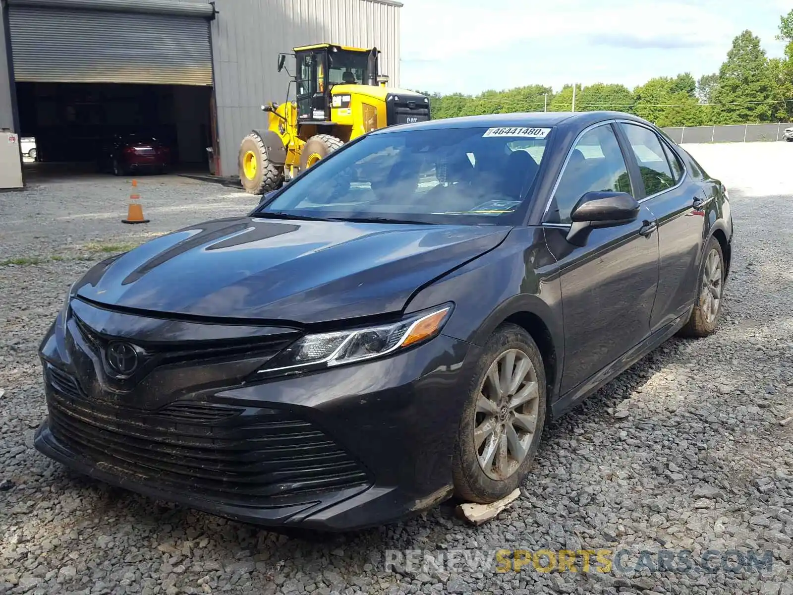
[[(295, 48), (297, 122), (331, 121), (331, 90), (335, 85), (377, 86), (377, 48), (366, 50), (318, 44)], [(279, 61), (279, 66), (282, 62)]]

